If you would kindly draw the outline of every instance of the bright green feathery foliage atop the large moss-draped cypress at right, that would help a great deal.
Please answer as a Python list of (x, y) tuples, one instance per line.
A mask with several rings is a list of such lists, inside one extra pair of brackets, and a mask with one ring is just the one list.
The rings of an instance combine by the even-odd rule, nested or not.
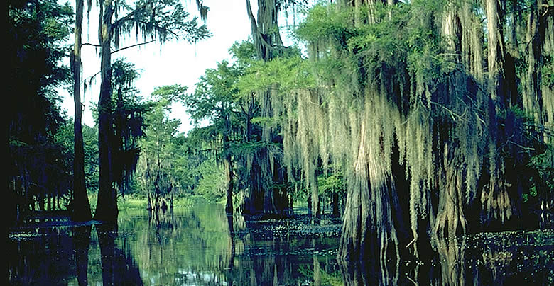
[(366, 22), (369, 7), (362, 6), (356, 12), (352, 7), (318, 4), (299, 25), (296, 35), (313, 47), (315, 51), (311, 56), (317, 61), (312, 66), (318, 76), (327, 81), (348, 84), (352, 74), (331, 71), (357, 70), (362, 75), (359, 84), (363, 86), (366, 83), (364, 74), (367, 79), (376, 79), (379, 70), (388, 67), (388, 71), (398, 74), (386, 76), (401, 79), (406, 76), (403, 69), (408, 67), (418, 80), (438, 82), (442, 74), (454, 68), (441, 54), (445, 40), (433, 30), (434, 23), (429, 25), (435, 21), (433, 17), (440, 16), (445, 5), (445, 1), (433, 0), (371, 6), (372, 17), (379, 21), (353, 25), (354, 13), (359, 13), (359, 21)]

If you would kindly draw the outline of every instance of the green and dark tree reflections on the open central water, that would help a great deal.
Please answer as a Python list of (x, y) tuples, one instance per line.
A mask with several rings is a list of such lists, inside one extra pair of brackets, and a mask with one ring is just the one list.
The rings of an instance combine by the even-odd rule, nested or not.
[[(137, 230), (131, 248), (146, 285), (311, 284), (313, 253), (336, 250), (338, 242), (337, 234), (301, 234), (304, 223), (295, 231), (278, 221), (246, 226), (244, 218), (227, 216), (219, 205), (153, 213), (147, 226), (141, 215), (128, 213), (120, 229)], [(336, 264), (335, 253), (322, 255)]]

